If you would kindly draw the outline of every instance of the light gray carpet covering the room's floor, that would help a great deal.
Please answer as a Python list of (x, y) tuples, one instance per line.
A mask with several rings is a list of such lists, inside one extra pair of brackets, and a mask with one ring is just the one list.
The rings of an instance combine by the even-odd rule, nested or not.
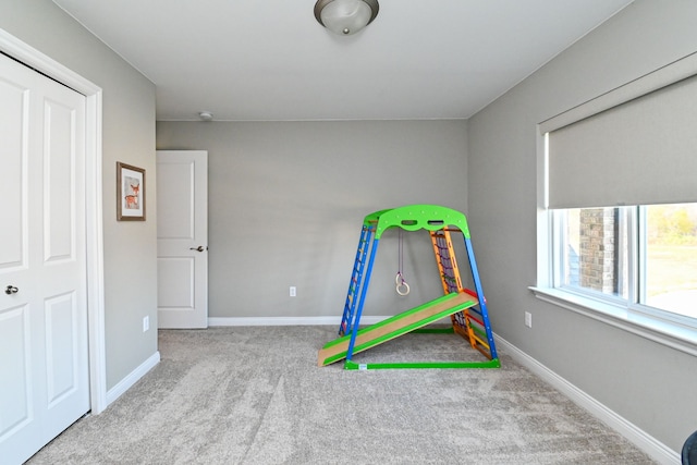
[[(160, 331), (161, 363), (28, 463), (653, 463), (505, 354), (500, 369), (317, 367), (334, 338), (330, 327)], [(412, 334), (362, 360), (396, 353), (479, 356), (456, 335)]]

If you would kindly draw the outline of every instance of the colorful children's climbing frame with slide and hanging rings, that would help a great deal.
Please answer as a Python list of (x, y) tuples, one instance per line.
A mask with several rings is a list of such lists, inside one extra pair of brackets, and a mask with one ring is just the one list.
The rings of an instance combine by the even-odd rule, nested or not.
[[(428, 231), (440, 272), (444, 295), (403, 311), (376, 325), (359, 328), (363, 306), (368, 293), (370, 273), (378, 252), (380, 237), (390, 228), (405, 231)], [(472, 270), (474, 291), (462, 283), (451, 233), (462, 233), (467, 259)], [(401, 253), (401, 244), (400, 244)], [(400, 270), (396, 282), (400, 290), (408, 293)], [(447, 329), (425, 328), (450, 317), (452, 326)], [(404, 362), (357, 364), (353, 355), (382, 344), (409, 332), (454, 332), (469, 342), (472, 347), (484, 355), (484, 360), (475, 362)], [(409, 205), (401, 208), (380, 210), (365, 217), (356, 259), (348, 283), (348, 293), (339, 327), (340, 338), (327, 343), (318, 355), (318, 365), (326, 366), (344, 359), (345, 369), (382, 368), (498, 368), (500, 362), (493, 343), (489, 323), (487, 301), (479, 280), (479, 272), (472, 248), (467, 219), (463, 213), (437, 205)]]

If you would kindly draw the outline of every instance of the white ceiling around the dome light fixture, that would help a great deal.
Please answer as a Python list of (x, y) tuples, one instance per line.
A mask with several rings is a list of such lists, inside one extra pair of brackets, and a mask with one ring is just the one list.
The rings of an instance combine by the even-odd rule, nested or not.
[(53, 0), (157, 85), (158, 120), (469, 118), (632, 0)]

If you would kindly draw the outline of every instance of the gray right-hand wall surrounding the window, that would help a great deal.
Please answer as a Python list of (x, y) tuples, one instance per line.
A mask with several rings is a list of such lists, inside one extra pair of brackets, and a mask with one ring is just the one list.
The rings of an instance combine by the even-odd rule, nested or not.
[[(697, 358), (542, 303), (536, 123), (697, 51), (697, 2), (638, 0), (480, 111), (468, 210), (494, 331), (674, 450), (697, 429)], [(533, 313), (533, 329), (523, 314)]]

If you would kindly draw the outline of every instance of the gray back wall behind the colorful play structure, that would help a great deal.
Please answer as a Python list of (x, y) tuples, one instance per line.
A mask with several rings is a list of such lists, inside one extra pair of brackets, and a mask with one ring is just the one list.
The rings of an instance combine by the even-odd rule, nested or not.
[[(363, 218), (467, 205), (465, 121), (158, 122), (158, 149), (209, 156), (209, 315), (341, 317)], [(421, 231), (420, 233), (424, 233)], [(365, 315), (442, 294), (428, 234), (380, 241)], [(289, 286), (297, 297), (289, 297)]]

